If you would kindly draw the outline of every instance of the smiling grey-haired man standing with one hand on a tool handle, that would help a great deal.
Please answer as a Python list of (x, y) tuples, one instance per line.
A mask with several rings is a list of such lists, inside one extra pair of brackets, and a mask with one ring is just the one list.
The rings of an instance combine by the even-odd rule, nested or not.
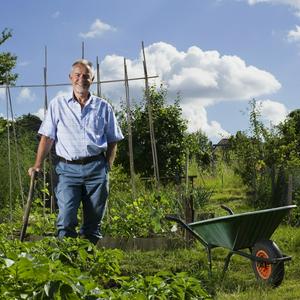
[(112, 107), (90, 94), (94, 79), (92, 64), (78, 60), (69, 75), (73, 94), (50, 102), (39, 134), (35, 164), (39, 171), (55, 143), (59, 207), (58, 237), (76, 237), (77, 212), (82, 202), (83, 224), (79, 235), (96, 244), (101, 238), (100, 223), (108, 197), (108, 171), (113, 165), (117, 142), (123, 139)]

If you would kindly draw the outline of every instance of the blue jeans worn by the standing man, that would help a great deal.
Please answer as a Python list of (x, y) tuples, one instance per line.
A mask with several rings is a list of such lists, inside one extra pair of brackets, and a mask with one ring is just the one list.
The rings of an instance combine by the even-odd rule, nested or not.
[(99, 161), (85, 165), (59, 162), (56, 166), (58, 184), (56, 198), (58, 237), (77, 237), (77, 213), (80, 203), (83, 224), (79, 235), (96, 244), (102, 237), (100, 224), (108, 197), (108, 163), (103, 156)]

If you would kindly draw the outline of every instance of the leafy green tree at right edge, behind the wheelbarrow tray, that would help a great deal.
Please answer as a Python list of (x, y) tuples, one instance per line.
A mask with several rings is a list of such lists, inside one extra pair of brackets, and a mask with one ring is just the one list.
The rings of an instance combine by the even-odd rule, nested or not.
[(294, 197), (299, 193), (300, 110), (267, 129), (255, 100), (250, 108), (250, 134), (239, 131), (230, 139), (233, 165), (253, 193), (253, 206), (286, 205), (290, 175), (294, 176)]

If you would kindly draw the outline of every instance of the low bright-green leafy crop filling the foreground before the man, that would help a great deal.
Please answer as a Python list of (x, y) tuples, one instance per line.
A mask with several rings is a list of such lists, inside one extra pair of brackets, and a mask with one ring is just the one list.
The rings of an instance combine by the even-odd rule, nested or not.
[[(5, 232), (4, 226), (0, 228)], [(124, 276), (120, 250), (87, 240), (21, 243), (0, 234), (1, 299), (208, 299), (186, 273)]]

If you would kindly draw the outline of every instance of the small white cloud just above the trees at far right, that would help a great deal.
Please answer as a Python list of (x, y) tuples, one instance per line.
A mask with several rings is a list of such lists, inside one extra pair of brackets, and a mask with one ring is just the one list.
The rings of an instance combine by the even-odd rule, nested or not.
[(272, 100), (257, 101), (261, 117), (266, 123), (278, 125), (284, 121), (289, 111), (284, 104)]

